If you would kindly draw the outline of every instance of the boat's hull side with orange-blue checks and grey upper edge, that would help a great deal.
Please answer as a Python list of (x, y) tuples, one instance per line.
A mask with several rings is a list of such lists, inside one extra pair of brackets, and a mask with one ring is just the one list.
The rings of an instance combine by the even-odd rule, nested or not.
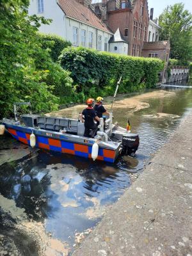
[[(20, 125), (6, 123), (4, 123), (4, 125), (13, 138), (27, 145), (30, 145), (30, 135), (34, 132), (36, 137), (35, 147), (37, 148), (92, 158), (93, 140), (84, 140), (84, 143), (76, 143), (68, 141), (67, 136), (63, 134), (58, 136), (58, 134), (55, 134), (54, 132), (34, 130), (32, 127), (22, 127)], [(111, 150), (109, 148), (99, 147), (97, 160), (114, 163), (116, 157), (118, 157), (118, 152), (118, 148), (116, 148), (116, 150)]]

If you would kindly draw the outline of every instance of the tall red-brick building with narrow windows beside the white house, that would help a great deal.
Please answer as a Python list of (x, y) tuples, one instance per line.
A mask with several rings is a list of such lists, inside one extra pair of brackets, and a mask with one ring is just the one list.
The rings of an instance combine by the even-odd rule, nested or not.
[(102, 0), (90, 7), (113, 33), (120, 29), (129, 44), (127, 54), (141, 56), (148, 35), (147, 0)]

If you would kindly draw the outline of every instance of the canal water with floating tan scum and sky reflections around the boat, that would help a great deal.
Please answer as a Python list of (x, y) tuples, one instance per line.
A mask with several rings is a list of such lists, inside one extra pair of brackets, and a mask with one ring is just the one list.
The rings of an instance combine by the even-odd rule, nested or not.
[[(81, 109), (61, 115), (77, 118)], [(129, 118), (140, 147), (135, 156), (120, 157), (115, 164), (32, 150), (8, 134), (1, 136), (0, 254), (70, 255), (191, 109), (192, 90), (118, 97), (114, 120), (125, 127)]]

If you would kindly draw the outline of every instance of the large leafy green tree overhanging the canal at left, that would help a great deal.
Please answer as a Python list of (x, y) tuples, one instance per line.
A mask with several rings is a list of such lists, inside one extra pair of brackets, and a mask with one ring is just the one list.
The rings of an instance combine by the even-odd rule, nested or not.
[(70, 74), (52, 62), (37, 36), (40, 23), (49, 20), (29, 17), (28, 4), (0, 2), (0, 118), (12, 113), (13, 102), (31, 101), (33, 111), (57, 109), (59, 99), (53, 93), (72, 90)]

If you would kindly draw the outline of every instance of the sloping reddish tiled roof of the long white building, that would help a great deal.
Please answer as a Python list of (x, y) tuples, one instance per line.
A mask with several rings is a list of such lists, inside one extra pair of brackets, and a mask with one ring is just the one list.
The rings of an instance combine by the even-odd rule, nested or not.
[(58, 0), (58, 5), (68, 17), (112, 34), (106, 24), (103, 24), (92, 10), (77, 3), (76, 0)]

